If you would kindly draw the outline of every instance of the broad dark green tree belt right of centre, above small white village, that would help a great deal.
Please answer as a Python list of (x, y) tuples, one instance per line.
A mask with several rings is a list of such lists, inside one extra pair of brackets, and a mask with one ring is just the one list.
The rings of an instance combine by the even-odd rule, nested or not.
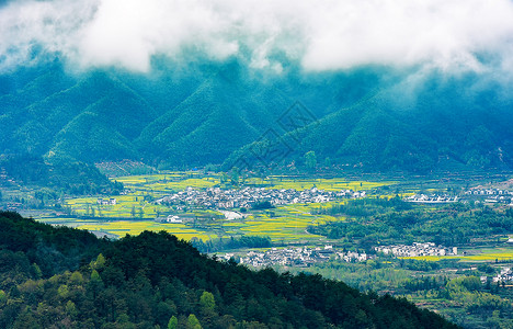
[(346, 208), (341, 209), (341, 212), (352, 212), (353, 218), (309, 226), (308, 231), (330, 239), (357, 240), (360, 247), (368, 249), (376, 246), (377, 241), (381, 245), (430, 241), (455, 246), (468, 243), (477, 237), (505, 235), (513, 229), (512, 211), (504, 212), (488, 206), (451, 204), (436, 208), (375, 207), (376, 213), (369, 215), (374, 212), (371, 207), (357, 216), (360, 206), (350, 202)]

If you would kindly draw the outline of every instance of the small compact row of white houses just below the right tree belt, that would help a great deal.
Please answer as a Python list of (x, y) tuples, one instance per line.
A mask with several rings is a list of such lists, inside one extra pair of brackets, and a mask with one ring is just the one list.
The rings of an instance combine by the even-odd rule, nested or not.
[(458, 247), (436, 246), (433, 242), (413, 242), (412, 246), (378, 246), (374, 247), (377, 252), (394, 254), (396, 257), (418, 257), (418, 256), (455, 256), (458, 254)]

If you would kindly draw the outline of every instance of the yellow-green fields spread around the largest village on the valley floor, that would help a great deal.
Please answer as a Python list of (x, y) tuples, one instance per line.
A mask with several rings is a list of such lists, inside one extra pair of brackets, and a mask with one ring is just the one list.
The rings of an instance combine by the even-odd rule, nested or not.
[[(118, 177), (115, 179), (129, 191), (126, 195), (102, 195), (66, 200), (66, 218), (42, 217), (41, 220), (70, 225), (94, 231), (103, 231), (123, 237), (137, 235), (144, 230), (167, 230), (185, 240), (196, 237), (202, 240), (219, 236), (269, 236), (273, 241), (308, 241), (323, 239), (321, 236), (306, 232), (309, 225), (341, 220), (326, 215), (311, 215), (311, 211), (326, 204), (294, 204), (280, 206), (270, 212), (259, 211), (247, 214), (241, 219), (220, 219), (223, 214), (213, 209), (174, 209), (158, 205), (152, 201), (183, 191), (187, 188), (197, 190), (221, 186), (219, 174), (205, 175), (200, 172), (167, 172), (148, 175)], [(262, 185), (269, 189), (306, 190), (317, 186), (319, 190), (372, 190), (394, 182), (350, 181), (334, 179), (294, 179), (270, 177), (267, 179), (248, 179), (247, 184)], [(99, 205), (98, 198), (116, 200), (115, 205)], [(156, 220), (168, 215), (186, 217), (183, 224), (167, 224)], [(202, 218), (198, 222), (190, 218)], [(210, 218), (210, 220), (208, 220)], [(196, 225), (198, 224), (198, 225)]]

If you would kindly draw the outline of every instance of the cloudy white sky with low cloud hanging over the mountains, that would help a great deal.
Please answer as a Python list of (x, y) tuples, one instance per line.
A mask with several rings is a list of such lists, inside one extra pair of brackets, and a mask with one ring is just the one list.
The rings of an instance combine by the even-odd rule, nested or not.
[(16, 0), (0, 4), (0, 70), (59, 57), (149, 72), (238, 58), (281, 73), (368, 65), (513, 76), (513, 0)]

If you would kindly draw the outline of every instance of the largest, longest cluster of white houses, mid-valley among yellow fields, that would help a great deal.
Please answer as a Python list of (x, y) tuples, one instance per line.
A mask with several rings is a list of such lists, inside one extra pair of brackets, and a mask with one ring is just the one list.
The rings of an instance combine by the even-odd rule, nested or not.
[(337, 198), (365, 197), (365, 191), (353, 192), (345, 191), (324, 191), (312, 188), (310, 190), (297, 191), (273, 190), (265, 188), (244, 188), (241, 190), (221, 190), (219, 188), (210, 188), (204, 191), (187, 188), (160, 200), (158, 204), (180, 205), (194, 204), (207, 208), (249, 208), (255, 203), (270, 202), (272, 205), (285, 205), (294, 203), (324, 203)]

